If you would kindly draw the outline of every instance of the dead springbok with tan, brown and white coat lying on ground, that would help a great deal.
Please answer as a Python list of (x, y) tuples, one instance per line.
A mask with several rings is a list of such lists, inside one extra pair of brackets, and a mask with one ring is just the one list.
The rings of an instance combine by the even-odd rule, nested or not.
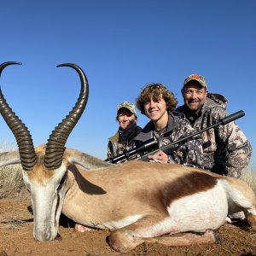
[[(11, 64), (20, 63), (4, 62), (0, 75)], [(61, 212), (85, 227), (112, 230), (108, 243), (122, 253), (143, 241), (169, 246), (214, 243), (218, 239), (213, 230), (224, 224), (228, 214), (240, 211), (256, 230), (255, 195), (240, 179), (189, 166), (136, 160), (112, 165), (65, 148), (84, 111), (88, 81), (74, 64), (57, 67), (75, 69), (81, 90), (73, 110), (55, 127), (46, 145), (34, 148), (26, 125), (0, 91), (3, 119), (18, 144), (18, 150), (0, 154), (0, 166), (22, 166), (24, 183), (31, 193), (36, 240), (55, 239)], [(162, 236), (177, 233), (183, 234)]]

